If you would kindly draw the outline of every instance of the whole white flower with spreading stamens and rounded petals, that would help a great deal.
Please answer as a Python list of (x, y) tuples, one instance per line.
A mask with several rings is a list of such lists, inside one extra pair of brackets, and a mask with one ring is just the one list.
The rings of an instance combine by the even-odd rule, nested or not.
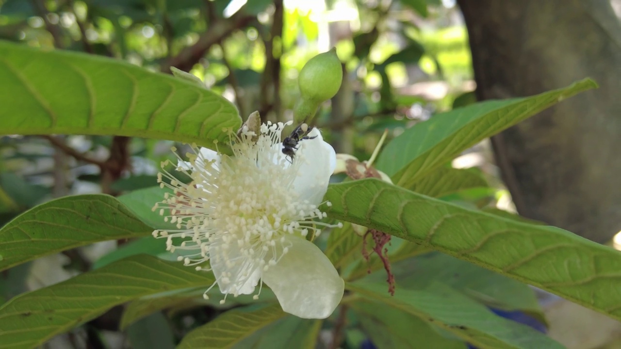
[(160, 174), (160, 185), (173, 188), (175, 195), (156, 207), (162, 215), (170, 209), (178, 230), (153, 235), (166, 237), (171, 252), (189, 250), (180, 260), (197, 270), (212, 270), (225, 295), (253, 294), (265, 283), (284, 311), (324, 319), (342, 299), (344, 283), (306, 236), (335, 226), (313, 219), (326, 216), (319, 206), (336, 155), (319, 130), (312, 129), (309, 137), (316, 137), (301, 140), (294, 158), (286, 158), (283, 127), (261, 125), (256, 143), (255, 134), (245, 129), (232, 144), (233, 156), (207, 148), (188, 155), (189, 163), (180, 161), (177, 170), (191, 177), (189, 184), (166, 172), (170, 184), (165, 183)]

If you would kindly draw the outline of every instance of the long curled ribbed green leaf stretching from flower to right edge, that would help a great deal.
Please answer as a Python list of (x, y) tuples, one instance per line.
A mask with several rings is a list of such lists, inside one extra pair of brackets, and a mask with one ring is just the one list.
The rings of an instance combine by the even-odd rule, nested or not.
[(566, 230), (525, 224), (378, 179), (332, 184), (330, 217), (421, 243), (621, 320), (621, 252)]

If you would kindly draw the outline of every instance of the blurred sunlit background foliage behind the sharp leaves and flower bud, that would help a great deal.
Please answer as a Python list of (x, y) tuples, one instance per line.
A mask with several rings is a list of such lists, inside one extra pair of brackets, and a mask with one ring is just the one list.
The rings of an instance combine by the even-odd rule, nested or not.
[[(0, 39), (163, 73), (174, 66), (235, 102), (242, 118), (259, 111), (272, 121), (292, 118), (304, 63), (336, 47), (343, 85), (314, 124), (337, 153), (360, 160), (371, 156), (384, 130), (394, 137), (436, 112), (476, 101), (468, 33), (454, 0), (0, 0)], [(160, 161), (174, 158), (173, 145), (127, 137), (2, 137), (0, 224), (53, 197), (118, 196), (153, 186)], [(442, 199), (514, 211), (487, 142), (450, 166), (471, 168), (479, 185)], [(129, 253), (161, 248), (150, 241), (98, 243), (12, 268), (0, 275), (0, 302), (118, 259), (119, 246)], [(172, 348), (220, 311), (197, 302), (156, 312), (125, 332), (118, 330), (117, 307), (50, 346)], [(365, 338), (352, 326), (343, 348), (369, 345)]]

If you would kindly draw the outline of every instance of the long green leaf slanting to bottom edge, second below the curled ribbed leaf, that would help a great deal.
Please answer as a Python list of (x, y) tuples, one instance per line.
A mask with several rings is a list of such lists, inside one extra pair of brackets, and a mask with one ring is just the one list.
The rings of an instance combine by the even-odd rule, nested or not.
[(379, 283), (357, 281), (345, 288), (415, 315), (481, 348), (563, 348), (543, 333), (499, 317), (483, 304), (440, 283), (416, 290), (397, 289), (394, 296)]

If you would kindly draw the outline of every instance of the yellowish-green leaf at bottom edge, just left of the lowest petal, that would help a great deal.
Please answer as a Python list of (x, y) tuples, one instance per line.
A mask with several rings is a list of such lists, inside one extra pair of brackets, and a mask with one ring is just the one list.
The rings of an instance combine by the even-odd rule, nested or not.
[(188, 333), (178, 349), (233, 348), (255, 331), (286, 315), (280, 304), (250, 306), (225, 312), (215, 320)]

